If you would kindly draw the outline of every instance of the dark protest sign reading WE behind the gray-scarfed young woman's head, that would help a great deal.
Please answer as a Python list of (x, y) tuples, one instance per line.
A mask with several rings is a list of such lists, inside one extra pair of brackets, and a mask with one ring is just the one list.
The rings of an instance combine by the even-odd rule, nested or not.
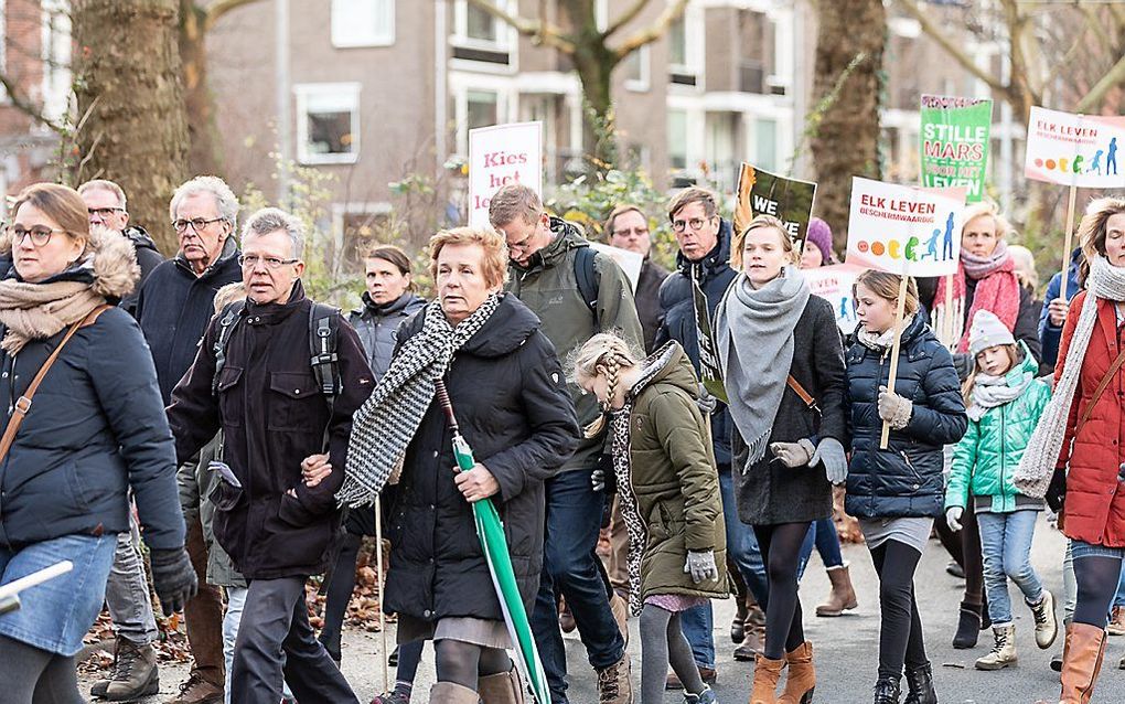
[(738, 171), (735, 232), (741, 232), (755, 215), (773, 215), (785, 224), (793, 242), (804, 242), (817, 185), (784, 178), (744, 163)]

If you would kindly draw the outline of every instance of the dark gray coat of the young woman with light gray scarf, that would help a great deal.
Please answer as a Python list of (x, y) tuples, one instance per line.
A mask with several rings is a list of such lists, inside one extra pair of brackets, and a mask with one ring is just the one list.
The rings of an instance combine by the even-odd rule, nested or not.
[[(816, 445), (820, 438), (832, 437), (847, 446), (844, 416), (846, 371), (844, 349), (830, 303), (809, 296), (804, 312), (793, 330), (793, 364), (778, 374), (791, 374), (812, 395), (820, 412), (810, 409), (786, 386), (770, 444), (795, 443), (809, 438)], [(784, 380), (782, 380), (784, 381)], [(801, 523), (828, 518), (832, 513), (832, 488), (825, 467), (788, 467), (775, 461), (772, 451), (756, 464), (746, 467), (746, 442), (734, 430), (735, 498), (738, 517), (750, 525)]]

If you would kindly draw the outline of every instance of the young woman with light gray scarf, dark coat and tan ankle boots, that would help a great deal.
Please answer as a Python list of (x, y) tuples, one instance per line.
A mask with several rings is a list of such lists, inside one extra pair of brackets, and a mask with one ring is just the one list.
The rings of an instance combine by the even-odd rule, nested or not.
[[(770, 578), (765, 651), (752, 704), (811, 702), (798, 554), (812, 522), (832, 511), (844, 456), (844, 357), (830, 303), (813, 296), (776, 217), (759, 215), (731, 247), (739, 271), (716, 311), (734, 437), (738, 516), (754, 526)], [(781, 698), (777, 680), (789, 665)]]

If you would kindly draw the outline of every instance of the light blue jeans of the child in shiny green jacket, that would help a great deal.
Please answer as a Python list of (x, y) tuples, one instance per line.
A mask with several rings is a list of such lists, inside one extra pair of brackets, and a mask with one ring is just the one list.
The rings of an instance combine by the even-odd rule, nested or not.
[(1043, 598), (1043, 582), (1032, 567), (1032, 537), (1038, 511), (1019, 510), (1010, 514), (976, 514), (981, 532), (981, 556), (984, 560), (984, 594), (988, 615), (996, 625), (1011, 623), (1011, 599), (1008, 579), (1024, 592), (1027, 604)]

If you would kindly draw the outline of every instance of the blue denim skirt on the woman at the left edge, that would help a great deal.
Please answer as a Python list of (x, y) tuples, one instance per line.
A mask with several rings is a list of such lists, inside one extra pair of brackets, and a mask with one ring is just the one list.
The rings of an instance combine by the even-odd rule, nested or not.
[(64, 535), (20, 550), (0, 547), (0, 585), (63, 560), (74, 565), (65, 574), (21, 591), (22, 608), (0, 616), (0, 635), (60, 656), (78, 653), (82, 636), (101, 613), (116, 549), (114, 533)]

